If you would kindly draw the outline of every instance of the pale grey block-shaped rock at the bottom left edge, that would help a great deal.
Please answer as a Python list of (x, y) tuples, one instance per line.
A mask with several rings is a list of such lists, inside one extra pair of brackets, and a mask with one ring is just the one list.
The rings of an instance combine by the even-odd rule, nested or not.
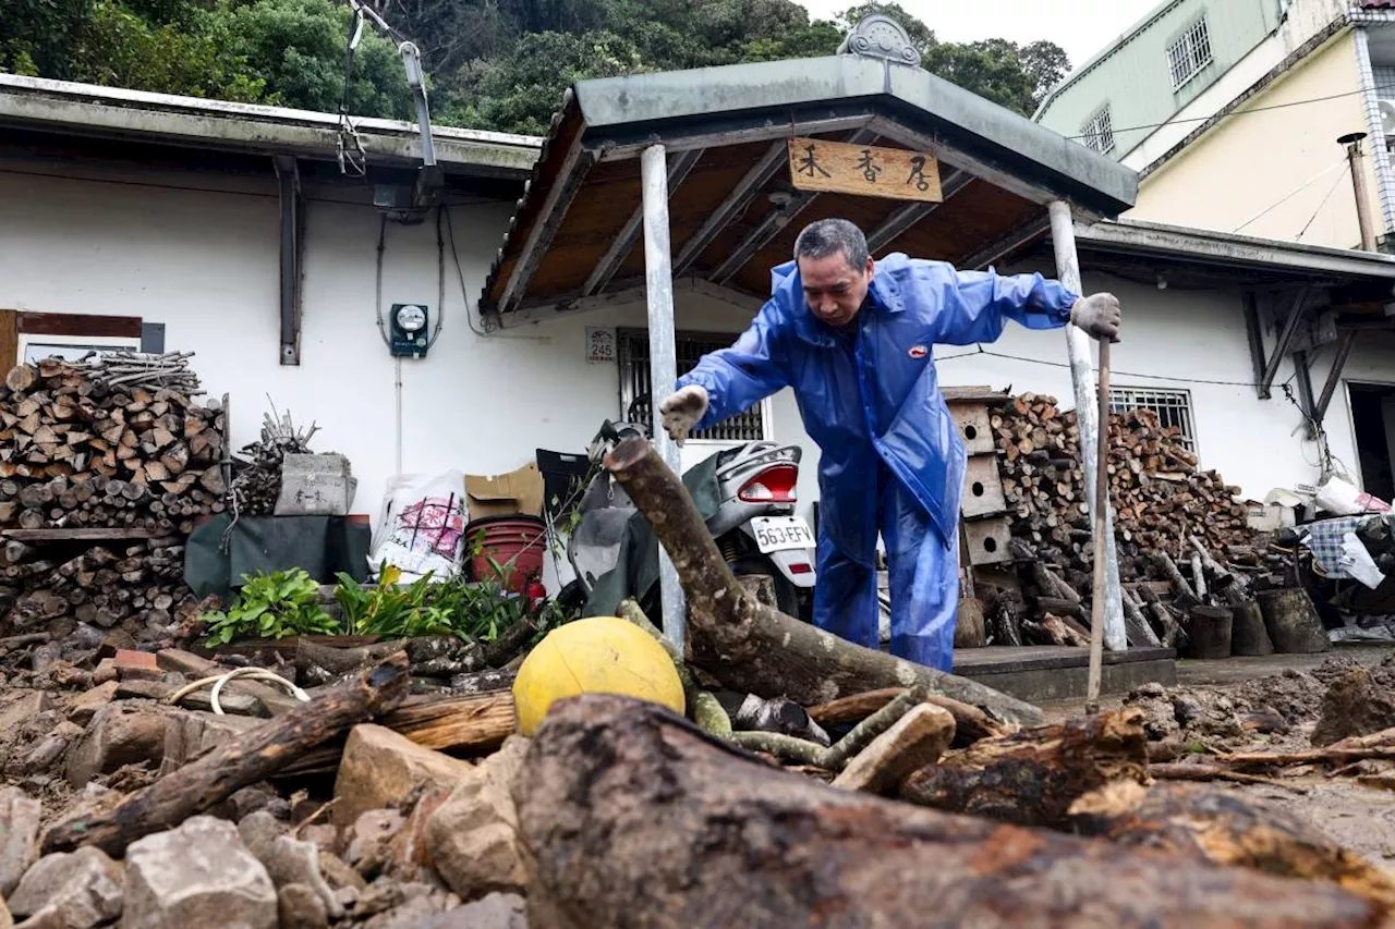
[(276, 889), (237, 827), (194, 816), (126, 852), (127, 926), (276, 929)]

